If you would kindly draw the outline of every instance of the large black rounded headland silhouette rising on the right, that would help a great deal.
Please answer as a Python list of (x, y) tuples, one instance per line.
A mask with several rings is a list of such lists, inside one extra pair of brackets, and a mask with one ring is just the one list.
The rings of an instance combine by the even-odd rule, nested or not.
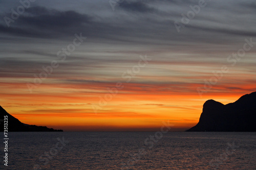
[(214, 100), (206, 101), (199, 123), (187, 132), (255, 132), (255, 122), (256, 92), (252, 92), (227, 105)]

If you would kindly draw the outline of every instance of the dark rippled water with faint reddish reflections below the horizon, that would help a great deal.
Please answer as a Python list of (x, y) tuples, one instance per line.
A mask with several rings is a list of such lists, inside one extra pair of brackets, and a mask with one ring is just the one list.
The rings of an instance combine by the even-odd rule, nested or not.
[(171, 132), (153, 141), (154, 135), (10, 132), (8, 167), (0, 169), (256, 169), (254, 132)]

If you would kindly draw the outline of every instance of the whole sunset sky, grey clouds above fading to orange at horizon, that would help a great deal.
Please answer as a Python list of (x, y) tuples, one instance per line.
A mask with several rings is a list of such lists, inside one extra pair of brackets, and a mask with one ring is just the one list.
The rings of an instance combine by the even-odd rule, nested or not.
[(255, 7), (0, 1), (0, 105), (64, 131), (189, 129), (205, 101), (256, 91)]

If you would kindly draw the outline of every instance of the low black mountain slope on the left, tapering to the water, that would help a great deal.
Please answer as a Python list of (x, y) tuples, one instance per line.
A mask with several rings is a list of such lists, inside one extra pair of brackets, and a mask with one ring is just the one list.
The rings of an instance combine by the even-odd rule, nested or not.
[(8, 132), (62, 132), (62, 130), (54, 130), (46, 126), (35, 126), (21, 123), (17, 118), (13, 117), (5, 109), (0, 106), (0, 132), (4, 131), (5, 117), (8, 116)]

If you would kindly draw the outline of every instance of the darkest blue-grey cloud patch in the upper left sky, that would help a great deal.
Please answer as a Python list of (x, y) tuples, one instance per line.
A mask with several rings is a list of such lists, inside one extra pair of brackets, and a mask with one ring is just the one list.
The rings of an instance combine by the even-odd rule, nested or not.
[[(7, 14), (11, 16), (11, 13)], [(92, 17), (75, 11), (58, 11), (45, 7), (31, 7), (11, 27), (0, 24), (0, 33), (14, 36), (58, 38), (81, 32), (92, 22)], [(65, 37), (64, 36), (64, 37)]]

